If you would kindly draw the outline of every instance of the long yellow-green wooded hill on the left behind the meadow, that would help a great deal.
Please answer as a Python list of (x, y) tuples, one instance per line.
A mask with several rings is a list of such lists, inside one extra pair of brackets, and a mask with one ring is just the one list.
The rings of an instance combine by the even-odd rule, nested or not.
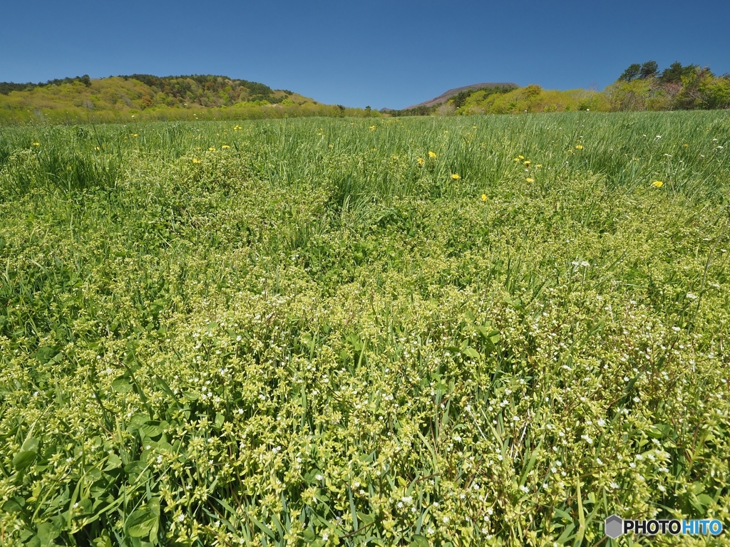
[(88, 75), (0, 83), (0, 123), (375, 115), (226, 76)]

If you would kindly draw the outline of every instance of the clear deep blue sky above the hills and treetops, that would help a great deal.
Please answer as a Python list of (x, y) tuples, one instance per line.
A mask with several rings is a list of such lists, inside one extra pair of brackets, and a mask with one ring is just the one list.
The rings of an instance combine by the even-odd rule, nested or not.
[(730, 1), (7, 2), (0, 81), (225, 74), (404, 108), (476, 82), (604, 88), (631, 63), (730, 72)]

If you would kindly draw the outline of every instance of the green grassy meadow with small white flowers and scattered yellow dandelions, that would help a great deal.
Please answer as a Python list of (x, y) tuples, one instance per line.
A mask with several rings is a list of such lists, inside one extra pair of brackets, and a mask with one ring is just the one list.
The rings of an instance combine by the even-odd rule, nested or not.
[(730, 524), (729, 144), (730, 112), (0, 129), (0, 544)]

